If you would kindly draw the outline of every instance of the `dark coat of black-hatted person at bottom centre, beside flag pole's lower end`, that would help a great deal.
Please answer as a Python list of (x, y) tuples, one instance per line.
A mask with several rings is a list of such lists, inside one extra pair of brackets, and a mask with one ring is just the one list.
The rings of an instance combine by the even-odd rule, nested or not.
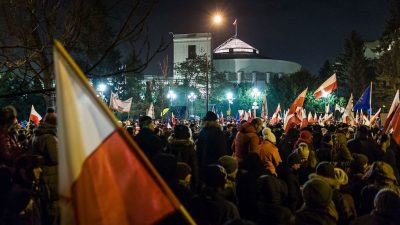
[(188, 211), (199, 225), (222, 225), (240, 218), (236, 206), (216, 190), (205, 190), (194, 197), (189, 202)]

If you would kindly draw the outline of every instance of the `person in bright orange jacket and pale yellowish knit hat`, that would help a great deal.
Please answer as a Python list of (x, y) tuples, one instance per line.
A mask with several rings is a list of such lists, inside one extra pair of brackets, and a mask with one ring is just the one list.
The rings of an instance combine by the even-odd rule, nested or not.
[(262, 131), (263, 141), (257, 148), (257, 153), (260, 155), (267, 171), (274, 176), (277, 176), (276, 167), (282, 162), (279, 150), (275, 146), (276, 137), (269, 127), (264, 128)]

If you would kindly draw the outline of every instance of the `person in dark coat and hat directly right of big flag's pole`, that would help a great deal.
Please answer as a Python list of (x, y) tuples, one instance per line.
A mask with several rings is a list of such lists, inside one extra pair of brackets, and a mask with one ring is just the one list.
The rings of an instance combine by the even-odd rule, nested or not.
[(163, 152), (164, 146), (160, 138), (154, 133), (154, 123), (151, 117), (140, 117), (139, 125), (140, 131), (134, 139), (147, 158), (152, 161), (158, 153)]

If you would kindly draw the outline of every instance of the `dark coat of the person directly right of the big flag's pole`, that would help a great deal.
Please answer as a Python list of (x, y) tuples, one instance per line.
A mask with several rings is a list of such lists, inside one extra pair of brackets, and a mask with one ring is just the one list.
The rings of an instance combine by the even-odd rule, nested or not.
[(161, 139), (148, 128), (140, 129), (134, 140), (150, 161), (152, 161), (158, 153), (161, 153), (164, 150)]

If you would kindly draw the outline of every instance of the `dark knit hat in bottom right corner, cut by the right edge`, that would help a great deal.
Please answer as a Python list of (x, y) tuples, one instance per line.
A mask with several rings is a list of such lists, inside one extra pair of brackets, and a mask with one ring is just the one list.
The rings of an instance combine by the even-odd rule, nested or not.
[(383, 188), (375, 195), (374, 208), (381, 214), (398, 215), (400, 213), (400, 196), (389, 188)]

